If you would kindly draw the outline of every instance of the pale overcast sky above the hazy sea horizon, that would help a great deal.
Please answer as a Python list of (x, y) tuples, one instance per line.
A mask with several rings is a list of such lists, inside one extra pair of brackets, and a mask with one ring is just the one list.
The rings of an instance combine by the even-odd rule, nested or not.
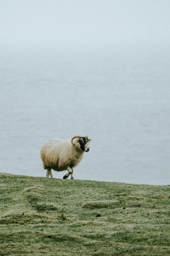
[(1, 49), (170, 43), (169, 0), (0, 0)]

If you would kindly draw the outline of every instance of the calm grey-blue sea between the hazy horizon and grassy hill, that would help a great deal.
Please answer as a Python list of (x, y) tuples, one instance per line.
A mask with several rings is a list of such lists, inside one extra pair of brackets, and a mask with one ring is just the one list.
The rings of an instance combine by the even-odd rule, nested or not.
[(41, 146), (80, 134), (92, 142), (74, 179), (170, 183), (166, 53), (3, 56), (0, 65), (0, 172), (45, 176)]

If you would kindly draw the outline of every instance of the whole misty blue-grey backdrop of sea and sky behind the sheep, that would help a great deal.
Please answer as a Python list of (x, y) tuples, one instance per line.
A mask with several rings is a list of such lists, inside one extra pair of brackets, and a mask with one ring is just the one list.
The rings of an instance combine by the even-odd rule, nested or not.
[(0, 10), (0, 172), (45, 176), (46, 141), (87, 135), (74, 179), (169, 184), (170, 1)]

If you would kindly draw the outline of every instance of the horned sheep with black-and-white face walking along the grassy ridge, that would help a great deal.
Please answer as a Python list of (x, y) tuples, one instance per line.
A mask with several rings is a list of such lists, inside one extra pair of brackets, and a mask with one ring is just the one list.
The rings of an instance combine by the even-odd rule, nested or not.
[(74, 136), (71, 140), (53, 139), (45, 143), (40, 153), (44, 169), (47, 170), (46, 177), (50, 175), (53, 178), (51, 169), (58, 172), (67, 170), (63, 179), (67, 179), (70, 174), (73, 179), (73, 168), (82, 160), (84, 152), (89, 151), (90, 141), (87, 136)]

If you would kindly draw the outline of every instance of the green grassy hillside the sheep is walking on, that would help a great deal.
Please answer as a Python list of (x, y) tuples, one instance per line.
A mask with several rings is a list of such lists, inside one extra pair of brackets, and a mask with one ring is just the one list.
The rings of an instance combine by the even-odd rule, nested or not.
[(170, 186), (1, 173), (0, 241), (1, 256), (170, 255)]

